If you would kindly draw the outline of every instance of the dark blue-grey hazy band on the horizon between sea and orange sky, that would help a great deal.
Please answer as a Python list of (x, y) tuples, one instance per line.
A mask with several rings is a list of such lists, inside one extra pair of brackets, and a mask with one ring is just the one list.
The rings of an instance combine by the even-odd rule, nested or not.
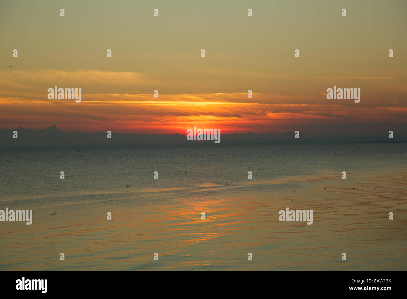
[[(18, 132), (18, 138), (13, 138), (13, 131)], [(44, 130), (0, 129), (0, 148), (75, 148), (88, 147), (138, 147), (138, 146), (241, 146), (241, 145), (267, 145), (267, 144), (324, 144), (324, 143), (389, 143), (407, 142), (404, 132), (394, 132), (394, 138), (388, 138), (388, 131), (383, 129), (381, 135), (345, 136), (332, 133), (330, 136), (318, 134), (307, 135), (300, 131), (300, 138), (294, 138), (294, 132), (280, 134), (256, 134), (252, 132), (222, 134), (221, 142), (215, 144), (213, 140), (187, 140), (186, 134), (136, 134), (115, 133), (112, 139), (107, 139), (106, 132), (63, 132), (54, 124)]]

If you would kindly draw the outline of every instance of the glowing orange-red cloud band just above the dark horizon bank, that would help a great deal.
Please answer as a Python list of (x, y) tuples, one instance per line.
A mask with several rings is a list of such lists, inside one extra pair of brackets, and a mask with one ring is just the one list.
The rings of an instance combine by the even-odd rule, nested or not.
[[(2, 97), (0, 127), (44, 129), (55, 124), (64, 131), (183, 134), (193, 126), (219, 128), (223, 133), (279, 133), (299, 128), (318, 131), (406, 124), (407, 107), (336, 105), (339, 101), (272, 103), (275, 99), (269, 100), (271, 103), (249, 103), (245, 96), (241, 93), (161, 94), (154, 99), (152, 94), (88, 94), (82, 96), (81, 103)], [(257, 94), (256, 98), (265, 102), (268, 96)]]

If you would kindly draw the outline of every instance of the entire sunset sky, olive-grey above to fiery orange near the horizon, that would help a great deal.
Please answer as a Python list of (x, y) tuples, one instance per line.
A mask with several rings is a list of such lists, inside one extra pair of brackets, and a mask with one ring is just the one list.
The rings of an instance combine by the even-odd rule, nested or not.
[[(2, 0), (0, 129), (405, 131), (406, 11), (404, 0)], [(81, 103), (49, 100), (55, 85), (81, 88)], [(328, 100), (334, 85), (360, 88), (360, 103)]]

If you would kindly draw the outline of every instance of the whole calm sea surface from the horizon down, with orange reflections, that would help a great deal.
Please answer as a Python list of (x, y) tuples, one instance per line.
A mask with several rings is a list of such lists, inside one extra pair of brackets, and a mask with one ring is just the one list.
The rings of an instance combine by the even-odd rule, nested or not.
[(33, 210), (0, 222), (0, 270), (405, 271), (406, 162), (407, 144), (0, 150), (0, 210)]

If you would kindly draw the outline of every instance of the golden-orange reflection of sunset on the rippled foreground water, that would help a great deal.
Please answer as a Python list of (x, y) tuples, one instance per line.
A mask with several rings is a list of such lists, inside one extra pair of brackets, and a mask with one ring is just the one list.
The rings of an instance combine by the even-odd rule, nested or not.
[[(188, 192), (188, 200), (172, 204), (118, 208), (82, 203), (59, 218), (37, 217), (35, 225), (2, 223), (0, 269), (406, 270), (406, 179), (392, 172), (341, 180), (331, 171), (258, 183), (294, 182), (295, 193), (282, 188), (202, 200)], [(214, 186), (238, 187), (204, 184), (196, 192)], [(313, 210), (313, 224), (280, 222), (286, 207)]]

